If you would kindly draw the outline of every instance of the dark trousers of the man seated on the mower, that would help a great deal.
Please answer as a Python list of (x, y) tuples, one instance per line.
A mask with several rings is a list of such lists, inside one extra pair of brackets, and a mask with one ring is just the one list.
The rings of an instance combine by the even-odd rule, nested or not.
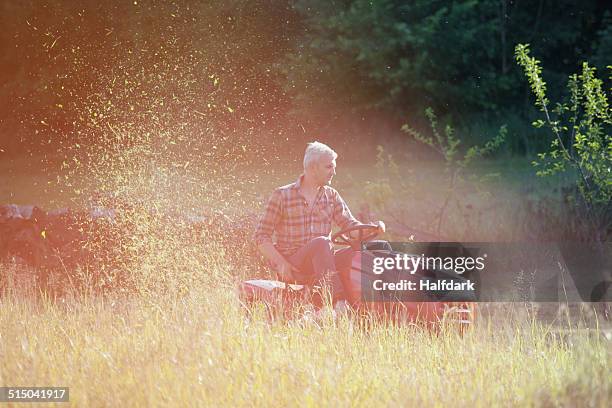
[(293, 277), (302, 285), (320, 285), (331, 288), (332, 301), (345, 300), (345, 288), (338, 271), (346, 272), (351, 268), (355, 250), (350, 247), (334, 252), (333, 245), (327, 237), (312, 239), (287, 260), (299, 272), (293, 271)]

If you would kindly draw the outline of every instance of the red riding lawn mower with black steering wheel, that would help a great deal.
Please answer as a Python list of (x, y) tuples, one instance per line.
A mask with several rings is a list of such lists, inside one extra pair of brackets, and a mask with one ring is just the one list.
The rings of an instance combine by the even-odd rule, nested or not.
[[(452, 290), (377, 290), (383, 286), (393, 288), (389, 284), (384, 285), (389, 281), (445, 280), (463, 285), (474, 279), (474, 276), (469, 274), (423, 267), (409, 274), (393, 269), (380, 274), (373, 268), (375, 259), (419, 257), (423, 255), (420, 252), (435, 250), (440, 243), (421, 243), (418, 244), (420, 245), (418, 252), (414, 250), (399, 252), (391, 243), (375, 240), (377, 235), (377, 225), (362, 224), (341, 230), (331, 237), (334, 245), (350, 246), (354, 249), (350, 270), (338, 271), (352, 316), (399, 324), (419, 324), (430, 328), (450, 324), (457, 326), (461, 331), (473, 324), (476, 316), (476, 293), (462, 292), (457, 295)], [(313, 291), (320, 289), (316, 286), (299, 285), (276, 279), (251, 279), (239, 284), (238, 293), (247, 310), (252, 310), (257, 304), (263, 304), (270, 317), (282, 316), (292, 319), (299, 316), (299, 310), (303, 310), (300, 306), (313, 304)]]

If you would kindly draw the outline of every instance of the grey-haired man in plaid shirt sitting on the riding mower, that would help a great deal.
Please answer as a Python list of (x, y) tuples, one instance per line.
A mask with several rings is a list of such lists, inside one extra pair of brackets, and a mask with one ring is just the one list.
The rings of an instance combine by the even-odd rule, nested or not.
[[(338, 270), (351, 266), (354, 250), (333, 251), (332, 223), (341, 229), (359, 225), (340, 194), (329, 186), (336, 175), (338, 154), (312, 142), (304, 154), (304, 173), (295, 183), (279, 187), (268, 201), (255, 232), (260, 252), (281, 280), (300, 284), (331, 282), (336, 310), (347, 307)], [(379, 232), (385, 224), (378, 221)], [(272, 235), (276, 233), (276, 244)]]

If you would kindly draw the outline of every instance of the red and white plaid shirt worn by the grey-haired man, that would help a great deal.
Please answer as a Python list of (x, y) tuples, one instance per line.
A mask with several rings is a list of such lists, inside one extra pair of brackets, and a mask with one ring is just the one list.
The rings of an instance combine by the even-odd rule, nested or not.
[(312, 207), (309, 207), (300, 192), (303, 177), (272, 193), (255, 231), (258, 245), (271, 242), (272, 234), (276, 232), (276, 249), (289, 256), (313, 238), (329, 237), (332, 222), (342, 229), (359, 224), (340, 194), (329, 186), (319, 188)]

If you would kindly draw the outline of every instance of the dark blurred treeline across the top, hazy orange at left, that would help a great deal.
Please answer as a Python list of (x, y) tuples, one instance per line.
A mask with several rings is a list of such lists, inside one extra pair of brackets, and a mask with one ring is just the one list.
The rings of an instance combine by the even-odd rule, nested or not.
[(0, 149), (95, 143), (135, 117), (203, 144), (376, 142), (432, 107), (468, 143), (507, 124), (505, 151), (531, 155), (548, 140), (514, 47), (531, 44), (553, 101), (582, 61), (609, 81), (607, 3), (5, 0)]

